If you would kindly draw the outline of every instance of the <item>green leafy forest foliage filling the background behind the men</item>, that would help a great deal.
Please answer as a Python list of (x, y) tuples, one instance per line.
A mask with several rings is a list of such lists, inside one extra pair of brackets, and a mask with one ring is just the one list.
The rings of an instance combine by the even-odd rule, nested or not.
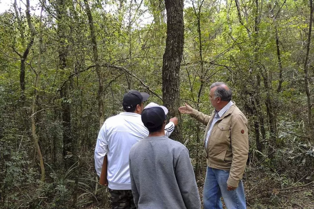
[[(99, 131), (99, 85), (105, 92), (105, 118), (122, 111), (122, 97), (128, 89), (149, 92), (144, 83), (162, 95), (161, 69), (167, 30), (162, 1), (132, 1), (132, 5), (131, 1), (124, 0), (89, 2), (101, 71), (105, 74), (102, 83), (93, 67), (93, 44), (84, 2), (62, 2), (61, 8), (60, 1), (46, 3), (41, 30), (37, 12), (41, 5), (31, 8), (32, 24), (36, 31), (42, 31), (43, 49), (40, 53), (39, 34), (36, 34), (25, 65), (25, 102), (21, 101), (19, 83), (20, 55), (30, 39), (24, 5), (21, 4), (19, 18), (14, 8), (0, 14), (0, 207), (68, 208), (73, 205), (75, 192), (77, 207), (107, 205), (106, 188), (98, 185), (93, 162)], [(314, 147), (308, 134), (303, 80), (308, 2), (258, 1), (258, 11), (256, 1), (239, 2), (242, 23), (235, 1), (186, 2), (181, 104), (187, 102), (211, 114), (210, 84), (226, 82), (233, 90), (233, 100), (249, 121), (252, 162), (247, 168), (246, 184), (259, 188), (255, 178), (261, 173), (265, 175), (263, 178), (271, 180), (274, 189), (306, 184), (314, 178)], [(276, 30), (283, 78), (279, 92)], [(66, 55), (65, 69), (59, 59), (61, 52)], [(310, 92), (313, 92), (312, 61), (310, 56)], [(39, 68), (35, 97), (35, 71)], [(60, 94), (65, 84), (67, 97)], [(148, 102), (162, 102), (149, 93)], [(40, 181), (41, 170), (31, 134), (34, 97), (36, 135), (45, 162), (45, 182)], [(275, 131), (271, 129), (271, 114), (266, 107), (268, 99), (273, 108)], [(69, 104), (71, 116), (72, 152), (66, 155), (73, 162), (70, 165), (66, 165), (63, 155), (63, 138), (67, 133), (63, 126), (64, 104)], [(313, 111), (314, 108), (312, 115)], [(255, 122), (260, 124), (258, 133)], [(182, 115), (180, 123), (198, 184), (202, 185), (206, 172), (205, 127), (186, 115)], [(263, 145), (261, 150), (257, 150), (257, 135)], [(257, 196), (257, 191), (252, 190), (251, 194)], [(311, 195), (311, 192), (304, 193), (304, 196)], [(276, 195), (269, 198), (273, 204), (279, 202)]]

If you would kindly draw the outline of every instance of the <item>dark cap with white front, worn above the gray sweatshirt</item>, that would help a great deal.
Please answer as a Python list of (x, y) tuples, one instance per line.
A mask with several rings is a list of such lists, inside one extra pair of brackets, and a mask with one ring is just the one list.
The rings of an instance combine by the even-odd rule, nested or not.
[(149, 103), (142, 112), (142, 122), (146, 128), (156, 128), (164, 123), (168, 109), (154, 102)]

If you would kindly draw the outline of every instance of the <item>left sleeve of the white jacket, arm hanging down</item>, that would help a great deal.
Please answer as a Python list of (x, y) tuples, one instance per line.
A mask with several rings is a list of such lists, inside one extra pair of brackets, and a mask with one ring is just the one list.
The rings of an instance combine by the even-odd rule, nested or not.
[(95, 169), (97, 172), (97, 175), (100, 176), (102, 164), (104, 162), (104, 157), (108, 152), (108, 139), (106, 134), (106, 122), (104, 125), (100, 128), (96, 147), (95, 147)]

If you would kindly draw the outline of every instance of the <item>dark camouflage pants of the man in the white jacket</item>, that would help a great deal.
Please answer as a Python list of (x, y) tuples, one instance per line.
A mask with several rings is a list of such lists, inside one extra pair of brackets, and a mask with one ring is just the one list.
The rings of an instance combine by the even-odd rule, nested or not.
[(136, 209), (131, 190), (108, 189), (112, 209)]

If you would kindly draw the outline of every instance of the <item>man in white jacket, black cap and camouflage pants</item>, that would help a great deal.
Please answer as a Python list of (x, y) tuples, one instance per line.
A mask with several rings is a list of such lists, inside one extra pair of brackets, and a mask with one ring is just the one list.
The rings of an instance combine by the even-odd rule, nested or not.
[[(133, 144), (149, 134), (141, 120), (143, 102), (148, 97), (149, 94), (135, 90), (125, 93), (122, 102), (125, 112), (107, 118), (98, 134), (95, 169), (100, 176), (100, 184), (109, 187), (113, 209), (136, 208), (131, 191), (128, 158)], [(170, 119), (165, 126), (166, 136), (170, 136), (177, 123), (176, 117)]]

